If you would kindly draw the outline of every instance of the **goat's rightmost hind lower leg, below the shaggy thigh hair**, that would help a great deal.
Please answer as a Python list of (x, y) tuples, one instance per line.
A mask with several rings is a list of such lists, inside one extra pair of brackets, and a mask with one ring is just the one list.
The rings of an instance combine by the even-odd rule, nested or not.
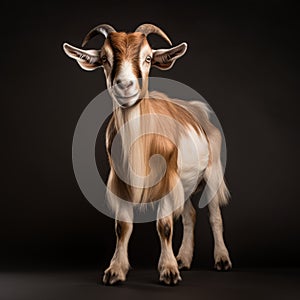
[(228, 271), (232, 268), (232, 264), (223, 239), (223, 221), (217, 197), (208, 204), (208, 210), (209, 221), (215, 242), (215, 268), (218, 271)]

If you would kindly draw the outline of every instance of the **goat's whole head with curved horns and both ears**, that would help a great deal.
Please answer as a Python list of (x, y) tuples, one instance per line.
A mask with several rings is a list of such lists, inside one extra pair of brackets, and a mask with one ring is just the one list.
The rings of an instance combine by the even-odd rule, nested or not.
[(92, 29), (82, 43), (84, 47), (91, 38), (103, 34), (105, 41), (100, 50), (83, 50), (67, 43), (63, 48), (84, 70), (103, 67), (111, 97), (125, 108), (145, 96), (151, 66), (168, 70), (187, 49), (187, 44), (182, 43), (170, 49), (154, 50), (147, 41), (150, 33), (160, 35), (172, 45), (167, 35), (152, 24), (143, 24), (133, 33), (116, 32), (110, 25), (102, 24)]

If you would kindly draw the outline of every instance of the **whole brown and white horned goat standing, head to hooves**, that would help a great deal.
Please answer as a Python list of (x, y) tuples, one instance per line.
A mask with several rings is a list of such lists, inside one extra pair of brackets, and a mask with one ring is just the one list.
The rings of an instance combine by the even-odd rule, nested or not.
[[(117, 244), (110, 266), (104, 273), (103, 282), (114, 284), (124, 281), (130, 267), (127, 248), (133, 228), (132, 212), (120, 210), (117, 201), (114, 201), (114, 195), (132, 203), (149, 203), (168, 195), (169, 202), (174, 204), (175, 209), (166, 214), (167, 210), (162, 206), (158, 212), (157, 231), (161, 241), (158, 270), (160, 281), (166, 284), (176, 284), (181, 280), (179, 269), (190, 268), (191, 265), (196, 220), (195, 209), (190, 199), (185, 201), (185, 194), (191, 189), (194, 192), (201, 182), (211, 185), (212, 189), (217, 188), (215, 196), (208, 204), (215, 242), (215, 267), (218, 270), (229, 270), (231, 261), (223, 240), (220, 212), (220, 205), (226, 204), (229, 196), (220, 161), (221, 134), (209, 121), (205, 104), (168, 99), (164, 94), (148, 92), (151, 66), (162, 70), (170, 69), (174, 62), (184, 55), (187, 44), (153, 50), (147, 41), (147, 35), (150, 33), (160, 35), (171, 44), (166, 34), (158, 27), (143, 24), (135, 32), (125, 33), (116, 32), (110, 25), (103, 24), (87, 34), (82, 46), (100, 33), (105, 36), (100, 50), (83, 50), (66, 43), (63, 47), (66, 54), (75, 59), (83, 69), (104, 69), (107, 87), (114, 104), (114, 112), (106, 132), (106, 147), (111, 165), (107, 183), (110, 191), (108, 197), (116, 214)], [(140, 116), (148, 115), (165, 116), (176, 122), (170, 126), (167, 121), (163, 122), (161, 118), (156, 120), (155, 117), (146, 122), (139, 121)], [(136, 185), (135, 179), (130, 179), (130, 176), (126, 182), (122, 180), (116, 173), (111, 158), (114, 137), (120, 128), (130, 121), (134, 122), (127, 126), (126, 134), (121, 139), (121, 168), (124, 168), (126, 174), (130, 164), (140, 175), (139, 178), (144, 178), (139, 181), (139, 185)], [(127, 152), (126, 143), (130, 140), (130, 135), (142, 133), (142, 127), (145, 126), (150, 134), (140, 134), (139, 140), (130, 145), (132, 151)], [(157, 130), (165, 134), (151, 134)], [(191, 146), (192, 143), (196, 148)], [(152, 165), (151, 170), (149, 167), (151, 157), (156, 154), (166, 161), (165, 174), (158, 183), (149, 185), (149, 172), (160, 171), (159, 165)], [(218, 182), (220, 184), (217, 184)], [(183, 241), (175, 258), (172, 249), (173, 218), (180, 215), (183, 222)]]

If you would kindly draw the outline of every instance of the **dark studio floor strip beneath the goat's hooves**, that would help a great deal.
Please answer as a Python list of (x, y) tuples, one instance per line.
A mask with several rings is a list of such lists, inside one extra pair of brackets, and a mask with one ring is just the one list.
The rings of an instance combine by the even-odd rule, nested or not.
[[(126, 283), (104, 286), (101, 272), (0, 272), (0, 299), (300, 299), (300, 269), (182, 271), (178, 286), (159, 284), (155, 270), (131, 270)], [(167, 297), (167, 298), (166, 298)]]

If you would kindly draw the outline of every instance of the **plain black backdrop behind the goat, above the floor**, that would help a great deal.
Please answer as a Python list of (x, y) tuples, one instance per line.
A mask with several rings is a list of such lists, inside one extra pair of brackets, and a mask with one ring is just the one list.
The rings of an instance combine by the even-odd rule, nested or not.
[[(85, 106), (105, 88), (62, 51), (100, 23), (130, 31), (159, 25), (184, 58), (168, 72), (197, 90), (226, 136), (225, 239), (235, 266), (299, 265), (299, 17), (287, 1), (1, 2), (2, 189), (0, 266), (107, 265), (113, 220), (77, 186), (72, 137)], [(157, 47), (166, 44), (150, 38)], [(93, 41), (100, 45), (102, 40)], [(207, 209), (197, 211), (194, 266), (212, 264)], [(176, 225), (177, 249), (181, 226)], [(133, 266), (153, 266), (155, 224), (134, 227)]]

